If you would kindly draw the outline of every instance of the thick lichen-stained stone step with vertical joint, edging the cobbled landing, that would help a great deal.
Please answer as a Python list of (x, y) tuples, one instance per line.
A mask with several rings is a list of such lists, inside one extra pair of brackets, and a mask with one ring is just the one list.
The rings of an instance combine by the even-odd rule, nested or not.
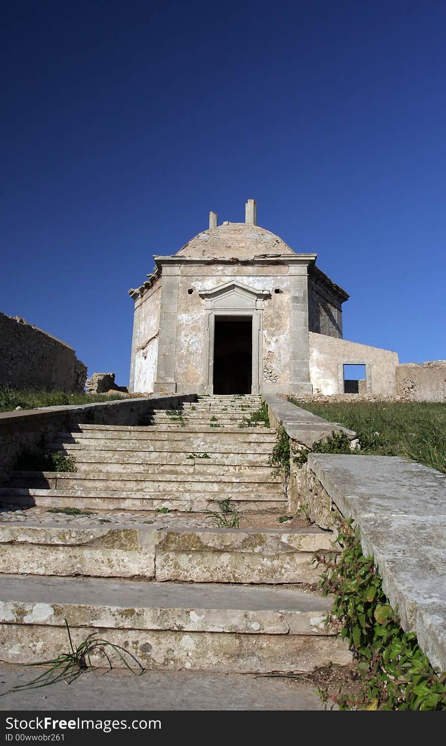
[[(209, 516), (210, 518), (210, 516)], [(205, 517), (203, 516), (203, 523)], [(162, 524), (10, 521), (0, 524), (3, 573), (138, 577), (194, 583), (317, 583), (313, 552), (334, 551), (322, 530), (183, 528)]]

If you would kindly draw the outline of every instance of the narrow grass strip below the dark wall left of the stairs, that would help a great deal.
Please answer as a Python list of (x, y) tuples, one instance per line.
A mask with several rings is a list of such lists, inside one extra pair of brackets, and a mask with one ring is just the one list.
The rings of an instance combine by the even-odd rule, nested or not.
[[(129, 398), (131, 398), (129, 394)], [(35, 410), (37, 407), (65, 407), (69, 404), (97, 404), (99, 401), (112, 401), (122, 396), (91, 394), (67, 394), (63, 391), (33, 391), (31, 389), (0, 388), (0, 412)]]

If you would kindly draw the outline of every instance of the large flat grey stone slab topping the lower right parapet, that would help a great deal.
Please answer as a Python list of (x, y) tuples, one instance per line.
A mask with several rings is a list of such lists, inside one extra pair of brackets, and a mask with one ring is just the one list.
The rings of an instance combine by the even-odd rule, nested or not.
[(309, 454), (308, 466), (360, 527), (404, 630), (446, 671), (446, 474), (384, 456)]

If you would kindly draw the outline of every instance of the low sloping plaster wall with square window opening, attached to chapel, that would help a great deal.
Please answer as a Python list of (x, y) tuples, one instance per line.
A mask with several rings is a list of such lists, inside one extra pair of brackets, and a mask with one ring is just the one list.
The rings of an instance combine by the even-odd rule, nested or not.
[(395, 394), (398, 366), (396, 352), (310, 332), (310, 380), (313, 393), (343, 393), (344, 364), (366, 366), (367, 393)]

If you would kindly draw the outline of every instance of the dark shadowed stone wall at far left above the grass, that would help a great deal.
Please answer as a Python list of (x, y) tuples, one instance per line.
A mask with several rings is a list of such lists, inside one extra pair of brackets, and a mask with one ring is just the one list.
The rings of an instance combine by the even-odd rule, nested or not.
[(19, 316), (0, 313), (0, 386), (83, 391), (86, 366), (74, 349)]

